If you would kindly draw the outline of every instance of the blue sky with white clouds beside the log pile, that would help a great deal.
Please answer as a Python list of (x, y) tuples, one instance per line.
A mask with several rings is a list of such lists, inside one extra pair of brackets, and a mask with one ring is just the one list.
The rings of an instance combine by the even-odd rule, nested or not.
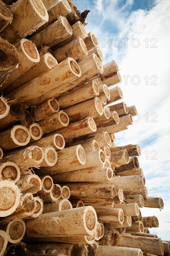
[(135, 105), (134, 125), (116, 134), (116, 146), (139, 144), (140, 167), (149, 196), (162, 197), (164, 209), (141, 209), (157, 216), (159, 228), (150, 229), (170, 240), (170, 1), (74, 0), (80, 11), (91, 10), (85, 27), (102, 50), (103, 64), (115, 60), (127, 106)]

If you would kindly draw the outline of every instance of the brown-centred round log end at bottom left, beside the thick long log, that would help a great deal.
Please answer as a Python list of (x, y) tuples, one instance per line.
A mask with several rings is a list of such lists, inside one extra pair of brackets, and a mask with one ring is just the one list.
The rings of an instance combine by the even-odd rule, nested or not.
[(20, 243), (26, 232), (26, 224), (23, 220), (17, 219), (2, 225), (2, 229), (6, 231), (9, 243)]

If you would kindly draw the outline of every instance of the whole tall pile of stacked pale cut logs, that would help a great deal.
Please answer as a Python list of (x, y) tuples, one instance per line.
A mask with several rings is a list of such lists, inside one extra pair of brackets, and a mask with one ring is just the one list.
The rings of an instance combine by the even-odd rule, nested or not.
[(0, 256), (170, 255), (139, 209), (163, 209), (140, 147), (115, 145), (137, 109), (117, 103), (118, 66), (103, 66), (88, 12), (0, 1)]

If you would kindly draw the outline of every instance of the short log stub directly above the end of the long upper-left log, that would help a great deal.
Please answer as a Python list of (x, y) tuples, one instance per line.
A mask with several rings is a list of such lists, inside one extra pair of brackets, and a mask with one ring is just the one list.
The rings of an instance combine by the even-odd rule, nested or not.
[(55, 58), (60, 63), (68, 57), (72, 57), (75, 61), (84, 59), (88, 54), (85, 42), (81, 37), (77, 37), (70, 43), (54, 51)]

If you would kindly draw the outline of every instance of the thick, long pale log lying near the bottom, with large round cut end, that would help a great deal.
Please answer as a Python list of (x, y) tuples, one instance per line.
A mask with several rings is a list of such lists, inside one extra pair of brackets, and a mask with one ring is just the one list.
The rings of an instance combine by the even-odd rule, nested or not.
[(26, 222), (26, 237), (91, 236), (96, 224), (97, 215), (91, 206), (46, 213), (39, 216), (37, 220), (32, 219)]

